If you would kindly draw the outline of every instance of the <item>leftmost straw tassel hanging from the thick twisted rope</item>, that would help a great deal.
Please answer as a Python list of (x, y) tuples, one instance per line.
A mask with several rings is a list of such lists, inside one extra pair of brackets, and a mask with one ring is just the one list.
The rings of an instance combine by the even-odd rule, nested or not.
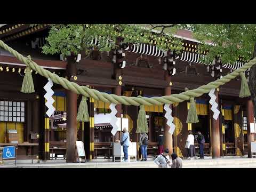
[[(28, 59), (31, 60), (29, 55), (28, 55)], [(35, 92), (33, 77), (31, 74), (31, 68), (28, 66), (26, 67), (26, 73), (23, 78), (20, 92), (22, 92), (22, 93), (34, 93)]]

